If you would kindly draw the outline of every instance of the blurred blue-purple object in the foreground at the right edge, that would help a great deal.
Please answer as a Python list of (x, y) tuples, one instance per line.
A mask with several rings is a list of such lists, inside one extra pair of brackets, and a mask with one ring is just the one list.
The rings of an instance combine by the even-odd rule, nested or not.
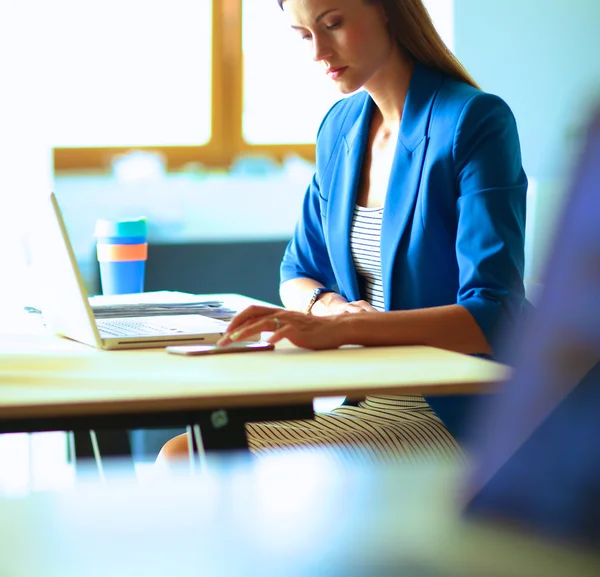
[[(600, 108), (574, 174), (514, 377), (482, 401), (466, 513), (600, 544)], [(565, 574), (569, 574), (565, 569)]]

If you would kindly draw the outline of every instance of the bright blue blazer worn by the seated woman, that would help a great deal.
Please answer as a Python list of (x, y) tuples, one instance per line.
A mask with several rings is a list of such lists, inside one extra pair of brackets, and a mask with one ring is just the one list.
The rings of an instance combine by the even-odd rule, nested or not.
[[(374, 102), (336, 103), (317, 137), (316, 172), (281, 265), (281, 282), (311, 278), (361, 299), (350, 226)], [(506, 103), (417, 63), (408, 90), (381, 228), (386, 310), (459, 304), (493, 349), (515, 325), (523, 287), (527, 178)], [(428, 398), (457, 436), (466, 398)]]

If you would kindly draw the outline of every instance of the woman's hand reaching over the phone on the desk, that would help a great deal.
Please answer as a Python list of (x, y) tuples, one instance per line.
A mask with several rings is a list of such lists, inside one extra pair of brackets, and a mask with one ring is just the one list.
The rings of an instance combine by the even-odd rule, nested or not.
[(285, 309), (251, 306), (230, 323), (219, 345), (243, 341), (257, 333), (273, 331), (269, 342), (288, 339), (304, 349), (337, 349), (344, 343), (343, 316), (318, 317)]

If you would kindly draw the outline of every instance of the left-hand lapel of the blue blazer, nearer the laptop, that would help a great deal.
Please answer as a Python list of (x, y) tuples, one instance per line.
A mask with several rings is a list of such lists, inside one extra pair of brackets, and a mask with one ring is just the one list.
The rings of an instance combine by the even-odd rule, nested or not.
[(360, 115), (343, 138), (337, 163), (332, 172), (331, 189), (335, 194), (329, 196), (327, 213), (331, 262), (340, 292), (350, 301), (360, 299), (356, 269), (350, 250), (350, 227), (369, 135), (372, 108), (373, 101), (366, 95)]

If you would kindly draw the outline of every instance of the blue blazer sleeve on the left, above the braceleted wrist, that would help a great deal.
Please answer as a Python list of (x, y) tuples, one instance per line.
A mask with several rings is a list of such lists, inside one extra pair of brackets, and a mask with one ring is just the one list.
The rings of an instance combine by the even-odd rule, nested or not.
[(335, 274), (327, 250), (323, 230), (323, 208), (326, 204), (321, 194), (321, 175), (327, 169), (331, 160), (332, 139), (337, 137), (330, 125), (332, 112), (339, 106), (334, 104), (327, 113), (317, 134), (317, 168), (304, 196), (302, 213), (296, 224), (294, 236), (288, 244), (280, 268), (280, 282), (284, 283), (294, 278), (309, 278), (320, 282), (327, 288), (336, 288)]

